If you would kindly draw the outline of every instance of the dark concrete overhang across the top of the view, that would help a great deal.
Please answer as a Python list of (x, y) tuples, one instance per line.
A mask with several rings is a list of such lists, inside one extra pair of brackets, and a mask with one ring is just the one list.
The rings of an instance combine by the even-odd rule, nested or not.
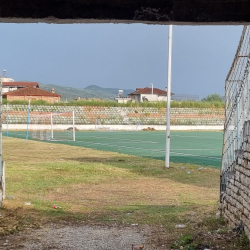
[(5, 23), (247, 24), (249, 0), (0, 0)]

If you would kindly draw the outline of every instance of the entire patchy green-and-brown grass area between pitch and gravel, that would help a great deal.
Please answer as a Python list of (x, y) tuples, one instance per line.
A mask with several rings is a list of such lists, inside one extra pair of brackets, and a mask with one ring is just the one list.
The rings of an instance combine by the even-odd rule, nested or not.
[[(219, 236), (230, 236), (230, 241), (221, 242), (238, 244), (238, 249), (248, 244), (214, 218), (218, 169), (199, 170), (200, 166), (183, 163), (166, 169), (160, 160), (14, 138), (4, 138), (3, 158), (7, 198), (1, 213), (6, 218), (17, 213), (18, 223), (10, 226), (12, 219), (5, 224), (0, 220), (0, 234), (14, 233), (29, 223), (37, 228), (37, 221), (63, 219), (147, 224), (155, 228), (154, 244), (172, 244), (173, 249), (215, 246)], [(59, 207), (53, 209), (54, 204)], [(176, 229), (176, 224), (186, 227)], [(225, 249), (233, 249), (231, 245)]]

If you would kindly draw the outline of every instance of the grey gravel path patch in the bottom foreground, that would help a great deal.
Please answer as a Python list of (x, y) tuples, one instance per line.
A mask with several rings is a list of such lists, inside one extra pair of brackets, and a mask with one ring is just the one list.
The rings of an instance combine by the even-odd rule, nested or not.
[(132, 244), (144, 244), (144, 249), (152, 250), (147, 244), (149, 228), (107, 227), (107, 226), (58, 226), (51, 224), (42, 229), (24, 231), (0, 238), (0, 249), (25, 250), (126, 250)]

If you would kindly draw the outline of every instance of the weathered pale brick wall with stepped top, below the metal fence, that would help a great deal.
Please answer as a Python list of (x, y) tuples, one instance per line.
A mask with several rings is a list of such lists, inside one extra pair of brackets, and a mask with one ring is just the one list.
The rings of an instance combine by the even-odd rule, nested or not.
[(243, 134), (244, 143), (237, 150), (234, 168), (221, 182), (220, 209), (228, 224), (244, 228), (250, 239), (250, 121), (245, 122)]

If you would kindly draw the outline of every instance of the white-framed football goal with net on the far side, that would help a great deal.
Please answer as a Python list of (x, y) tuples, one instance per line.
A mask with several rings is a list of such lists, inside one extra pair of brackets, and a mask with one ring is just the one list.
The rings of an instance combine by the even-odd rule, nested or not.
[(29, 134), (34, 139), (50, 141), (75, 141), (74, 112), (32, 114), (29, 118)]

